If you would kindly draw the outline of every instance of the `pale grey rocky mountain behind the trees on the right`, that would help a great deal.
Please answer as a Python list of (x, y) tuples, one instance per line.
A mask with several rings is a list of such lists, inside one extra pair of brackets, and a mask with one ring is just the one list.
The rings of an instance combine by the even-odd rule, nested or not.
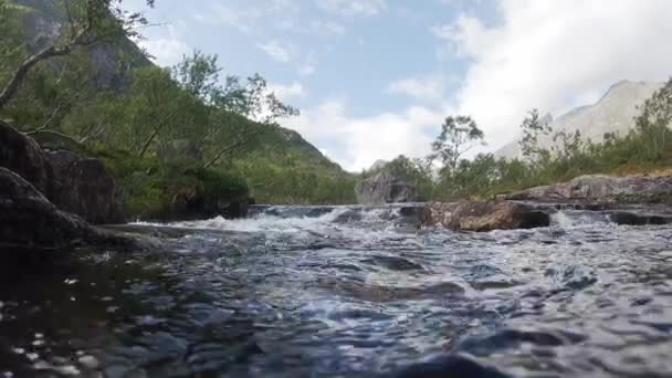
[[(585, 139), (592, 141), (601, 141), (607, 133), (623, 136), (634, 127), (639, 107), (662, 85), (663, 83), (621, 81), (613, 84), (597, 103), (574, 108), (555, 119), (548, 114), (542, 122), (550, 125), (554, 133), (579, 130)], [(500, 148), (495, 156), (519, 157), (519, 139), (521, 137)], [(553, 137), (542, 137), (539, 144), (550, 147), (554, 144)]]

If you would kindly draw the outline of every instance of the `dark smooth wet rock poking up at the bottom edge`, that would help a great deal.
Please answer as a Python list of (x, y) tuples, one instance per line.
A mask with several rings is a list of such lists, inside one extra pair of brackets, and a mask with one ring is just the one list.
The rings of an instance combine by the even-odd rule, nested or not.
[(390, 375), (393, 378), (507, 378), (508, 375), (463, 355), (439, 355)]

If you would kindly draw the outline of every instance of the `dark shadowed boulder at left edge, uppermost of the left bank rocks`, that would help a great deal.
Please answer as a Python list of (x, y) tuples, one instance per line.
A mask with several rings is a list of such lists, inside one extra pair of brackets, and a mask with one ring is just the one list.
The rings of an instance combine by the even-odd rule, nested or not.
[(6, 167), (48, 195), (51, 185), (51, 166), (36, 141), (0, 122), (0, 167)]

